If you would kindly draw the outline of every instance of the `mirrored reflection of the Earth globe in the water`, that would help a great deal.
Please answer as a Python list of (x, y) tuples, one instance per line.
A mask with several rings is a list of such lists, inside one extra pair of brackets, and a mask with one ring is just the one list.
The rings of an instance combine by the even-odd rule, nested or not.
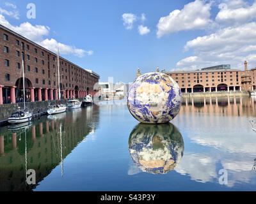
[(173, 124), (138, 124), (130, 135), (129, 151), (142, 171), (167, 173), (180, 162), (184, 142)]

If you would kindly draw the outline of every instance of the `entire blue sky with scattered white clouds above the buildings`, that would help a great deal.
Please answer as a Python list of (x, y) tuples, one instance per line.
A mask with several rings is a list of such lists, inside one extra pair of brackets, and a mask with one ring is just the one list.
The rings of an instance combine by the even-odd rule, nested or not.
[[(26, 6), (31, 1), (3, 0), (0, 24), (53, 51), (61, 43), (63, 57), (99, 73), (101, 81), (114, 77), (115, 82), (132, 82), (137, 68), (145, 73), (156, 67), (170, 71), (227, 63), (241, 69), (244, 60), (255, 67), (254, 2), (45, 0), (33, 1), (36, 18), (29, 19)], [(125, 13), (136, 19), (132, 26), (124, 24)], [(237, 34), (241, 30), (252, 34), (246, 38)]]

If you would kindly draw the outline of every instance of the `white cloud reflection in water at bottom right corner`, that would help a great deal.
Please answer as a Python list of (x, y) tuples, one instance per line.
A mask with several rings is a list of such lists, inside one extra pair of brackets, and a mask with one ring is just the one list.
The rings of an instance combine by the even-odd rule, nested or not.
[[(220, 168), (216, 168), (220, 163)], [(182, 162), (175, 168), (175, 171), (182, 175), (189, 175), (191, 180), (196, 182), (218, 182), (221, 175), (220, 169), (228, 171), (228, 187), (237, 183), (255, 183), (252, 171), (253, 159), (246, 156), (228, 156), (221, 159), (220, 155), (214, 153), (196, 154), (187, 153), (183, 156)]]

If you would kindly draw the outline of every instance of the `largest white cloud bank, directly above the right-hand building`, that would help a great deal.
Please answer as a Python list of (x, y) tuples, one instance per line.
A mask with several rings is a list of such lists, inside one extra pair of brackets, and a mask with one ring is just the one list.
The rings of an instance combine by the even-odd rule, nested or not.
[(199, 36), (185, 45), (194, 55), (177, 62), (177, 68), (195, 69), (216, 64), (231, 64), (243, 68), (243, 61), (249, 61), (249, 68), (256, 63), (256, 23), (226, 27), (205, 36)]

